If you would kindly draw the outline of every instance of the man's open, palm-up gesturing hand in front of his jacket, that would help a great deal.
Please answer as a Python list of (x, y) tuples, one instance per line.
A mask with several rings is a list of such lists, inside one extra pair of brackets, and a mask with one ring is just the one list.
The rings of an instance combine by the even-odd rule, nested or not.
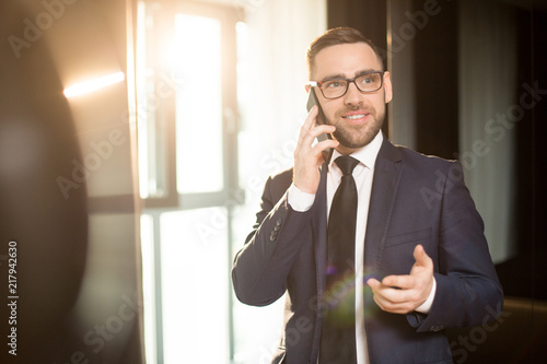
[(371, 278), (366, 284), (374, 293), (374, 302), (385, 312), (407, 314), (420, 307), (433, 286), (433, 261), (421, 245), (414, 249), (416, 262), (408, 275), (387, 275), (382, 282)]

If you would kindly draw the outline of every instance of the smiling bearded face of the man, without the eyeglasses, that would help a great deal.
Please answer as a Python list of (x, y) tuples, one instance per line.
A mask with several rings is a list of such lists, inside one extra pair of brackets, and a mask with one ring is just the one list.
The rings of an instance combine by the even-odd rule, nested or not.
[[(352, 79), (363, 72), (381, 71), (382, 66), (372, 48), (365, 43), (342, 44), (322, 49), (315, 56), (313, 81)], [(362, 93), (354, 83), (338, 98), (327, 99), (316, 92), (326, 122), (336, 127), (334, 137), (340, 142), (342, 154), (369, 144), (382, 128), (385, 104), (392, 99), (389, 73), (384, 74), (384, 85), (372, 93)]]

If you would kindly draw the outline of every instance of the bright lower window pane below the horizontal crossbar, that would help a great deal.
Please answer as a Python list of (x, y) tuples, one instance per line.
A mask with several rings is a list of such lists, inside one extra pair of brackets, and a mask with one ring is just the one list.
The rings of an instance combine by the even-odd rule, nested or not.
[(223, 208), (163, 213), (165, 363), (225, 363), (228, 220)]

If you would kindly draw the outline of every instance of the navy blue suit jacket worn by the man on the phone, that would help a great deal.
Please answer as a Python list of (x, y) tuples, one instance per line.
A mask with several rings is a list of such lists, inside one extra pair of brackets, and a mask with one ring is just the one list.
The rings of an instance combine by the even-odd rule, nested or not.
[[(237, 253), (237, 298), (264, 306), (287, 292), (284, 336), (272, 363), (317, 362), (326, 266), (326, 166), (313, 207), (292, 210), (292, 171), (266, 183), (253, 232)], [(429, 315), (385, 313), (365, 286), (371, 364), (452, 363), (447, 327), (496, 318), (503, 293), (484, 224), (457, 162), (429, 157), (384, 139), (376, 158), (364, 242), (365, 275), (408, 274), (414, 248), (433, 259), (437, 294)]]

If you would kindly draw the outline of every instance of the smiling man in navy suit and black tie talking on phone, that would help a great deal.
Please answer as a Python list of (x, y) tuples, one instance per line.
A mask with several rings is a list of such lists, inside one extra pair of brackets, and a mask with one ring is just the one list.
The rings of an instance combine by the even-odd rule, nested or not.
[[(358, 31), (328, 31), (307, 61), (325, 124), (314, 106), (293, 168), (266, 183), (235, 257), (235, 293), (263, 306), (287, 292), (272, 363), (452, 363), (443, 329), (494, 319), (503, 300), (462, 168), (384, 139), (392, 82)], [(314, 144), (322, 133), (333, 139)], [(338, 202), (342, 185), (357, 195)], [(351, 219), (351, 238), (331, 237)]]

